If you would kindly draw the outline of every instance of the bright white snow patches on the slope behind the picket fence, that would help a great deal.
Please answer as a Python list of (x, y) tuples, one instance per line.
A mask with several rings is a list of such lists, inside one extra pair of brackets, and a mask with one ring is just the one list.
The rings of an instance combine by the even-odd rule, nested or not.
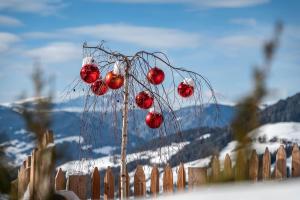
[[(267, 124), (250, 132), (249, 136), (253, 139), (253, 147), (257, 150), (258, 154), (263, 154), (266, 147), (268, 147), (270, 152), (273, 153), (279, 148), (279, 146), (284, 141), (300, 144), (300, 123), (286, 122), (286, 123)], [(205, 140), (209, 137), (210, 134), (205, 134), (201, 136), (201, 138), (199, 139)], [(264, 140), (259, 139), (263, 137), (265, 138)], [(139, 153), (128, 154), (127, 162), (129, 163), (140, 159), (150, 159), (150, 163), (152, 165), (159, 164), (159, 163), (167, 163), (172, 155), (175, 155), (179, 150), (181, 150), (184, 146), (188, 144), (189, 142), (173, 143), (171, 146), (158, 148), (156, 150), (142, 151)], [(229, 142), (227, 146), (225, 146), (222, 149), (222, 151), (219, 153), (221, 168), (223, 167), (222, 164), (226, 154), (229, 154), (231, 158), (234, 158), (236, 144), (237, 144), (236, 141)], [(118, 167), (119, 166), (118, 159), (119, 159), (118, 156), (117, 156), (117, 160), (114, 160), (111, 156), (105, 156), (94, 160), (71, 161), (61, 165), (60, 168), (62, 168), (63, 171), (67, 171), (68, 172), (67, 174), (76, 173), (78, 171), (86, 174), (86, 173), (91, 173), (91, 171), (95, 166), (97, 166), (99, 170), (104, 170), (108, 166)], [(210, 163), (210, 160), (211, 160), (211, 156), (199, 160), (191, 161), (185, 163), (185, 168), (187, 169), (187, 167), (204, 167)], [(290, 166), (290, 162), (289, 162), (290, 160), (291, 158), (287, 159), (287, 166)], [(146, 179), (149, 180), (152, 167), (148, 165), (143, 165), (143, 168), (145, 171)], [(174, 180), (177, 180), (178, 166), (174, 166), (172, 170), (173, 170)], [(162, 173), (163, 168), (159, 168), (159, 171), (160, 173)], [(130, 172), (129, 175), (130, 177), (133, 177), (134, 171)], [(160, 179), (162, 179), (162, 175), (160, 176)], [(131, 179), (131, 181), (133, 181), (133, 179)], [(147, 187), (150, 186), (149, 184), (150, 182), (147, 181)]]

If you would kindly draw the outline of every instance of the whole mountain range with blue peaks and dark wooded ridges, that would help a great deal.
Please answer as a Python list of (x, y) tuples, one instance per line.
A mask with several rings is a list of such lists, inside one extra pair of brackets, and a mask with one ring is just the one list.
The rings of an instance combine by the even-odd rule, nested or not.
[[(117, 124), (121, 124), (121, 112), (106, 113), (99, 123), (99, 111), (85, 113), (83, 116), (80, 112), (83, 104), (84, 98), (79, 97), (54, 103), (52, 106), (51, 129), (55, 133), (57, 151), (64, 152), (57, 160), (57, 165), (78, 160), (80, 154), (94, 159), (114, 156), (119, 152), (121, 131), (114, 128), (111, 119), (116, 117)], [(263, 125), (275, 122), (300, 122), (299, 105), (300, 93), (280, 100), (260, 110), (260, 123)], [(18, 106), (20, 106), (18, 103), (0, 106), (0, 147), (5, 147), (8, 161), (13, 166), (20, 165), (34, 148), (33, 134), (26, 131)], [(176, 110), (176, 120), (180, 121), (181, 132), (172, 133), (170, 129), (170, 134), (166, 136), (160, 136), (147, 128), (143, 121), (145, 111), (134, 109), (132, 112), (136, 118), (129, 119), (129, 153), (157, 151), (164, 147), (176, 148), (178, 150), (175, 154), (167, 156), (167, 162), (175, 166), (179, 162), (192, 162), (220, 152), (232, 142), (228, 126), (234, 117), (236, 107), (218, 104), (217, 115), (214, 104), (205, 105), (200, 114), (194, 115), (196, 109), (198, 108), (195, 106), (189, 106)], [(87, 129), (84, 130), (83, 119), (88, 123), (84, 127)], [(89, 131), (92, 134), (87, 134)], [(140, 161), (150, 162), (143, 159)]]

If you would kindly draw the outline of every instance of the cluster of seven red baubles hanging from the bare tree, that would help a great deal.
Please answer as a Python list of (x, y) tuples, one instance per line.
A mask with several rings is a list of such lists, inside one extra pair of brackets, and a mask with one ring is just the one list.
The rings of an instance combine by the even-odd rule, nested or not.
[[(101, 96), (107, 93), (108, 89), (119, 89), (124, 84), (124, 76), (122, 74), (110, 71), (102, 79), (97, 64), (92, 59), (91, 62), (83, 64), (80, 71), (81, 79), (87, 84), (91, 84), (91, 90), (95, 95)], [(161, 84), (165, 79), (165, 73), (158, 67), (153, 67), (147, 73), (147, 80), (153, 85)], [(181, 97), (187, 98), (193, 95), (194, 86), (188, 81), (183, 81), (178, 85), (177, 92)], [(153, 107), (154, 98), (150, 92), (142, 91), (135, 97), (135, 102), (142, 109)], [(146, 124), (150, 128), (159, 128), (163, 123), (163, 116), (156, 111), (150, 111), (145, 118)]]

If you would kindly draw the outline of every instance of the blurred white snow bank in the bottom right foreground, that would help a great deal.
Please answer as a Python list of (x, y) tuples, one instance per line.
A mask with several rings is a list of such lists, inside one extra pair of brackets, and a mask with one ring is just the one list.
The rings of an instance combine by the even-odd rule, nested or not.
[(299, 199), (299, 180), (203, 186), (192, 192), (160, 196), (161, 200), (282, 200)]

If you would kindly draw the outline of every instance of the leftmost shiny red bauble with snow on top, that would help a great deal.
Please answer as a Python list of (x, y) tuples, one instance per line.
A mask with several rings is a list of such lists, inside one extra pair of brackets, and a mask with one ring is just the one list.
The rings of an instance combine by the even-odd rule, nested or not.
[(88, 84), (94, 83), (99, 76), (100, 72), (95, 64), (85, 64), (80, 70), (81, 79)]

